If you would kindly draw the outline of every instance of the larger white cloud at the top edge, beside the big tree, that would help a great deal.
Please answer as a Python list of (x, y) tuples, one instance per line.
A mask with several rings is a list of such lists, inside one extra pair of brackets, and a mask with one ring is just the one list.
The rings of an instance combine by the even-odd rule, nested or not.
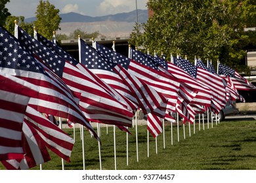
[[(146, 0), (137, 1), (138, 9), (146, 9)], [(104, 0), (97, 7), (98, 14), (116, 14), (119, 12), (130, 12), (136, 9), (136, 1), (127, 0)]]

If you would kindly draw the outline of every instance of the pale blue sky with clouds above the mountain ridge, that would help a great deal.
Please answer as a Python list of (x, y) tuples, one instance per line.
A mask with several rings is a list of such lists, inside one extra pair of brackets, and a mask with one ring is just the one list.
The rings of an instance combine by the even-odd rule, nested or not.
[[(46, 1), (46, 0), (45, 0)], [(77, 12), (88, 16), (104, 16), (119, 12), (130, 12), (138, 9), (146, 9), (147, 0), (49, 0), (60, 10), (60, 14)], [(39, 0), (10, 0), (6, 7), (13, 16), (30, 18), (35, 16)]]

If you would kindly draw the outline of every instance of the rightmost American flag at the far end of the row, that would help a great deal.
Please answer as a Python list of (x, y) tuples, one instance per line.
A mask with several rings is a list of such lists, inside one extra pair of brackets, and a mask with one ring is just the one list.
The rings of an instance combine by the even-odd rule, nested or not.
[(249, 83), (247, 79), (239, 75), (234, 69), (219, 63), (219, 75), (230, 76), (236, 90), (251, 90), (256, 89), (253, 84)]

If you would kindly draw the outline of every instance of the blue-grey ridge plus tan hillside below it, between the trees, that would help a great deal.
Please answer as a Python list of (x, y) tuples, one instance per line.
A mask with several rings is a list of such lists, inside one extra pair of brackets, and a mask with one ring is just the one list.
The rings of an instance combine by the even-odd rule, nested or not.
[[(81, 29), (81, 31), (87, 33), (99, 31), (100, 34), (106, 37), (127, 37), (133, 31), (137, 21), (136, 15), (136, 10), (96, 17), (85, 16), (75, 12), (60, 14), (62, 18), (60, 23), (61, 30), (56, 33), (69, 35), (75, 29)], [(147, 20), (148, 10), (138, 10), (138, 22), (146, 22)], [(25, 19), (25, 22), (32, 21), (35, 21), (35, 17)]]

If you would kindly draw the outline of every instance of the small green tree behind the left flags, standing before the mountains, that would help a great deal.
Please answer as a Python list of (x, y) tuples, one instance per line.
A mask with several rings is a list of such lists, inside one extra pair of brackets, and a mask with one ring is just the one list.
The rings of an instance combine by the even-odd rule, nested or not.
[(47, 39), (52, 39), (53, 31), (60, 29), (61, 18), (59, 12), (60, 10), (56, 9), (54, 5), (51, 5), (48, 0), (40, 0), (39, 5), (37, 5), (35, 27)]

